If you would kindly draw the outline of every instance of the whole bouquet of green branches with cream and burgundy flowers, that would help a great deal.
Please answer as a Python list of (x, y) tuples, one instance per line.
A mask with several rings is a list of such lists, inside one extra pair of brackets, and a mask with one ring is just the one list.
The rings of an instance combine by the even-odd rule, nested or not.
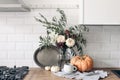
[[(68, 26), (64, 11), (60, 9), (57, 11), (60, 13), (60, 18), (53, 17), (52, 21), (48, 21), (42, 14), (40, 14), (40, 18), (35, 17), (47, 28), (47, 36), (40, 36), (40, 46), (54, 45), (62, 51), (62, 55), (65, 55), (68, 48), (77, 49), (78, 53), (82, 54), (83, 47), (86, 45), (83, 32), (88, 31), (88, 28), (83, 25)], [(76, 55), (76, 53), (72, 55)]]

